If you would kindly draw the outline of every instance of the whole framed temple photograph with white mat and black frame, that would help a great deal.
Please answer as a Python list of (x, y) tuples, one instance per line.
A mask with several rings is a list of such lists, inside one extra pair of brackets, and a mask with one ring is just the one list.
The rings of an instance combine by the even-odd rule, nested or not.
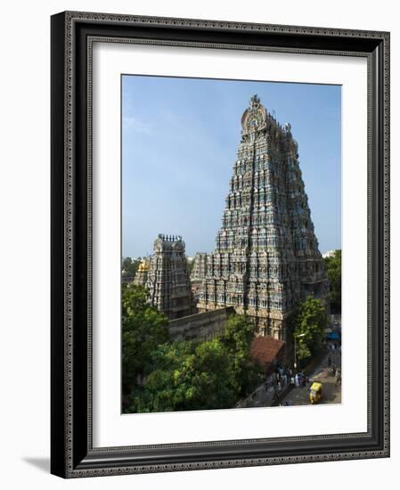
[(52, 473), (388, 457), (389, 34), (52, 17)]

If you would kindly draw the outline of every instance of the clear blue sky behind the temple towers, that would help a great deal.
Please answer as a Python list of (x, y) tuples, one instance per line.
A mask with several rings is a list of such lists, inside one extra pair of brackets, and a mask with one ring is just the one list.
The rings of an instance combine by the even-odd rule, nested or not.
[(212, 251), (252, 94), (290, 122), (322, 253), (341, 248), (341, 87), (122, 77), (122, 255), (179, 234)]

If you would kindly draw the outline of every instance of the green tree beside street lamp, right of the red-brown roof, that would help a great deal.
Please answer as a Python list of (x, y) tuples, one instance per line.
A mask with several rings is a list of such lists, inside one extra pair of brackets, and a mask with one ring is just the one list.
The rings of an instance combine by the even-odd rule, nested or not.
[(298, 360), (306, 360), (322, 347), (325, 336), (328, 317), (321, 299), (309, 297), (302, 301), (293, 320)]

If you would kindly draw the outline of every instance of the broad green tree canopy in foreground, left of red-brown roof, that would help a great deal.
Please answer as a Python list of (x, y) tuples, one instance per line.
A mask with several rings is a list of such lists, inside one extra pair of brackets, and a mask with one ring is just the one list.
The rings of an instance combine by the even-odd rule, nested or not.
[(224, 333), (207, 341), (173, 341), (153, 348), (145, 382), (129, 396), (126, 412), (231, 408), (256, 388), (260, 370), (250, 358), (255, 327), (233, 315)]

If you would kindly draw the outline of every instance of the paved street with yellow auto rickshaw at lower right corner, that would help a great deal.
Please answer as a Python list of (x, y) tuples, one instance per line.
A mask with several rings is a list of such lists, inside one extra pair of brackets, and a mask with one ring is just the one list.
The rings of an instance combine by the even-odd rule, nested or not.
[[(331, 356), (331, 367), (329, 367), (329, 356)], [(339, 350), (330, 351), (314, 370), (310, 376), (311, 386), (312, 381), (322, 383), (323, 396), (319, 404), (340, 404), (341, 403), (341, 385), (336, 386), (335, 377), (332, 372), (332, 366), (335, 365), (341, 369), (341, 354)], [(290, 405), (305, 405), (310, 404), (308, 388), (292, 388), (290, 393), (285, 396), (281, 404)]]

